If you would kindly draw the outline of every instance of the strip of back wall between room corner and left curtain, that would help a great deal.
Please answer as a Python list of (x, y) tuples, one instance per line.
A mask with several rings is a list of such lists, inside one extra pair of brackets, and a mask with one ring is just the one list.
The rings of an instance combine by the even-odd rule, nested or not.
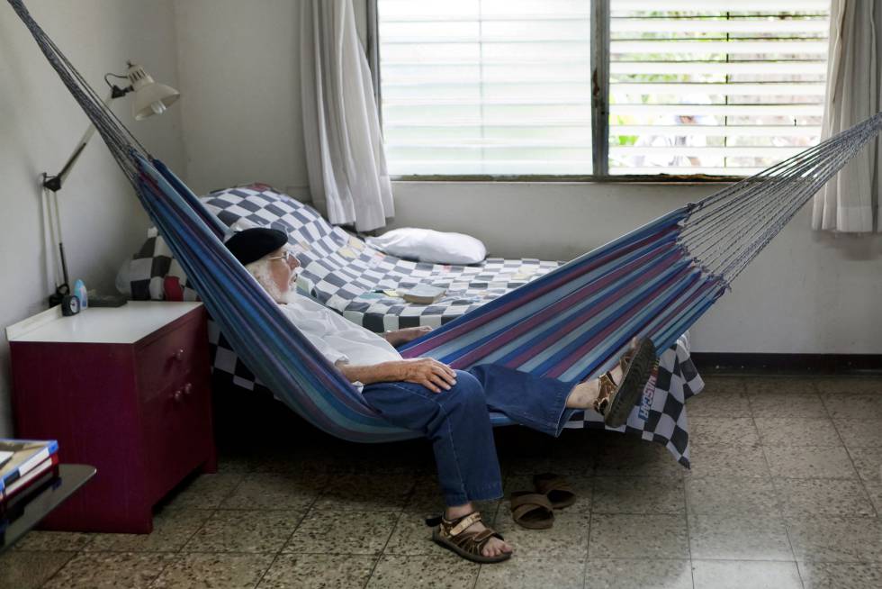
[(198, 193), (307, 190), (296, 0), (175, 2), (185, 174)]

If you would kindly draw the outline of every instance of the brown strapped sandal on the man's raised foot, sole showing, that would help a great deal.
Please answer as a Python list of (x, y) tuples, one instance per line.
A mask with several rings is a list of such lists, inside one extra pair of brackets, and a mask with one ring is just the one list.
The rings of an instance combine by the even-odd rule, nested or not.
[(601, 375), (600, 391), (594, 402), (594, 411), (603, 415), (604, 423), (610, 428), (625, 425), (628, 415), (644, 392), (655, 365), (653, 340), (638, 340), (634, 349), (622, 355), (619, 364), (622, 367), (622, 382), (616, 385), (610, 373)]

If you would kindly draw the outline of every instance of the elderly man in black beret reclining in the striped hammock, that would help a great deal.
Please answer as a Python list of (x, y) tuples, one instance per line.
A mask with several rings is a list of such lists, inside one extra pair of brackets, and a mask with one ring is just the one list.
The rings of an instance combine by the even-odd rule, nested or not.
[(635, 342), (629, 358), (607, 375), (575, 386), (492, 364), (455, 370), (432, 358), (404, 359), (395, 346), (429, 328), (381, 336), (297, 295), (291, 285), (299, 263), (287, 242), (284, 231), (255, 228), (233, 235), (227, 247), (316, 349), (350, 382), (364, 386), (365, 401), (376, 412), (431, 440), (446, 503), (433, 539), (475, 562), (509, 558), (511, 546), (482, 524), (473, 505), (502, 495), (489, 412), (553, 436), (573, 412), (584, 409), (618, 427), (649, 376), (652, 342)]

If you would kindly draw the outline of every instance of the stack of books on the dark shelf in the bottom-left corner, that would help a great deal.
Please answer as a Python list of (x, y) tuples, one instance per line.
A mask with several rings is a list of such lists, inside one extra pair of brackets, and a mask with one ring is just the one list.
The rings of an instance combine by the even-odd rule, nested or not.
[(0, 439), (0, 514), (57, 475), (55, 440)]

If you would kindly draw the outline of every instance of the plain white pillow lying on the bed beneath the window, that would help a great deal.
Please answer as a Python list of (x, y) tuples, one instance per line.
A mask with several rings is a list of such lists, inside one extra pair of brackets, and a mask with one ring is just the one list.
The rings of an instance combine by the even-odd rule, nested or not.
[(477, 264), (487, 257), (481, 240), (463, 233), (403, 227), (369, 237), (367, 242), (387, 254), (433, 264)]

